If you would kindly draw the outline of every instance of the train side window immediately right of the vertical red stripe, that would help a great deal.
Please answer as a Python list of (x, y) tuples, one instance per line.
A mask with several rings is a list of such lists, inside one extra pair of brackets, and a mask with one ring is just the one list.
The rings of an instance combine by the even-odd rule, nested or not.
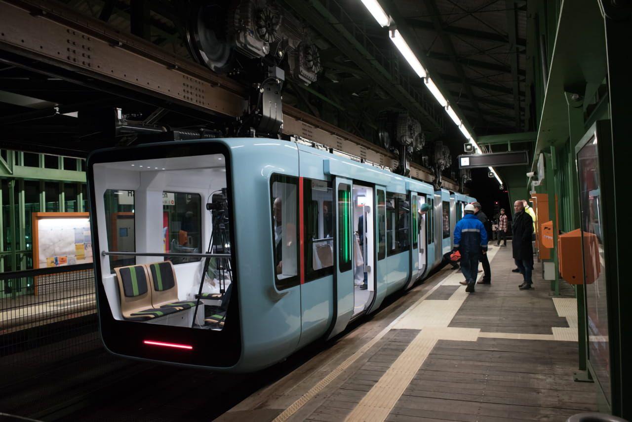
[[(306, 282), (334, 273), (331, 195), (330, 181), (303, 179)], [(319, 203), (323, 204), (322, 213)]]

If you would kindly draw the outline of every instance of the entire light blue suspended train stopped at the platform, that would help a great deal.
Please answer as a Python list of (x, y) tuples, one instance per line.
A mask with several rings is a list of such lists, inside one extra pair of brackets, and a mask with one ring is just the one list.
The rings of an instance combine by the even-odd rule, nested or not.
[(262, 138), (99, 150), (87, 176), (106, 348), (218, 371), (273, 365), (409, 289), (474, 201)]

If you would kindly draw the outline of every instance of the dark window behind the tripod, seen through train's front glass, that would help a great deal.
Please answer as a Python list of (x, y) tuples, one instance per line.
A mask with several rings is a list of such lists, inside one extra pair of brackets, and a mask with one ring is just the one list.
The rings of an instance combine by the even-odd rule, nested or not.
[[(202, 196), (198, 193), (162, 192), (162, 248), (173, 253), (202, 253)], [(201, 258), (169, 259), (172, 263)]]

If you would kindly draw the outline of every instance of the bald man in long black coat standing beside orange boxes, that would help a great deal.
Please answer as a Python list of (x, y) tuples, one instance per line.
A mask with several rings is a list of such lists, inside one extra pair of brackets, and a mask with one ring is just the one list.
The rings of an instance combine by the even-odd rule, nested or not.
[(533, 268), (533, 246), (531, 238), (533, 234), (533, 219), (531, 215), (525, 212), (525, 205), (522, 201), (514, 203), (516, 214), (513, 219), (513, 240), (511, 246), (513, 248), (513, 257), (516, 266), (523, 276), (523, 283), (518, 286), (520, 290), (528, 290), (531, 288), (531, 273)]

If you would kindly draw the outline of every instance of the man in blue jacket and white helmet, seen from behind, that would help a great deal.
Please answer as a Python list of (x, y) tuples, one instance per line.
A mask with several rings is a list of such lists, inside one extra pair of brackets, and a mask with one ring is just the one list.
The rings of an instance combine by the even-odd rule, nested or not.
[(487, 231), (474, 215), (476, 208), (471, 203), (465, 205), (465, 216), (454, 227), (454, 250), (461, 253), (461, 271), (465, 275), (468, 293), (474, 292), (478, 274), (478, 260), (487, 253)]

